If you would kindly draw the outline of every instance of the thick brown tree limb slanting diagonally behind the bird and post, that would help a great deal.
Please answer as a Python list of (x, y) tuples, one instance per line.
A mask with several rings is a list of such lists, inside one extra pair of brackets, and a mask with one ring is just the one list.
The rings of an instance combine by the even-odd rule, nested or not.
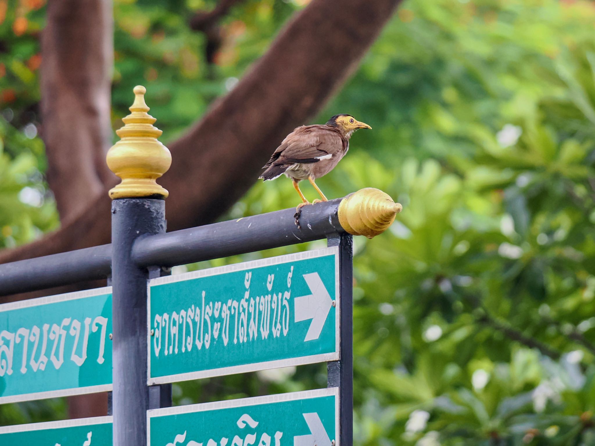
[[(170, 145), (173, 164), (159, 180), (170, 191), (168, 230), (211, 222), (241, 197), (278, 143), (355, 70), (399, 2), (313, 0), (296, 14), (235, 89)], [(83, 212), (57, 232), (1, 253), (0, 263), (109, 243), (108, 189), (83, 197)]]

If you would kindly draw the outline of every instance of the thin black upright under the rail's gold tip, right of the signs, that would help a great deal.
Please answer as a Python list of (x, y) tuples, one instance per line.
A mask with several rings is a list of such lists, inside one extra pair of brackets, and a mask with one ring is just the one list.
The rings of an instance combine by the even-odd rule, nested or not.
[(327, 363), (328, 387), (339, 387), (340, 443), (353, 444), (353, 236), (330, 234), (328, 246), (339, 246), (340, 354)]

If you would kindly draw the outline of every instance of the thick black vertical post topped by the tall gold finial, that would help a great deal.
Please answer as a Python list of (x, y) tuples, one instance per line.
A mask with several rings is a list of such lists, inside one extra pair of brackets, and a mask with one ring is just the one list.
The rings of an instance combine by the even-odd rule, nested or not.
[(114, 446), (146, 444), (149, 271), (133, 262), (131, 249), (137, 238), (163, 232), (164, 200), (112, 201)]

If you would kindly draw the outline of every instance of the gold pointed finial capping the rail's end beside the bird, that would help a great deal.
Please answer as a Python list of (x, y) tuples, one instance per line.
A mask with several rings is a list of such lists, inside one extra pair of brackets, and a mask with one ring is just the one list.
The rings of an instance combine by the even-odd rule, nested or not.
[(339, 222), (349, 234), (372, 238), (386, 231), (402, 210), (403, 206), (395, 203), (388, 194), (367, 187), (341, 201)]

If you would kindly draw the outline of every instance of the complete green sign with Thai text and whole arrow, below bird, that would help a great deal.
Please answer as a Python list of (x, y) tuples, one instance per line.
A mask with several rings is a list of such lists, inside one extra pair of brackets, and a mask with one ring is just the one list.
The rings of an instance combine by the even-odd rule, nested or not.
[(149, 282), (148, 383), (339, 359), (339, 249)]

